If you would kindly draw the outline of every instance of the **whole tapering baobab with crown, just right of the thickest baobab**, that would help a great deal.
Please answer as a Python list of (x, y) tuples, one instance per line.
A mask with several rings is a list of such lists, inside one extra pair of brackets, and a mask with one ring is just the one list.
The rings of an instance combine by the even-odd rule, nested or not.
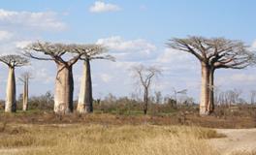
[(83, 60), (82, 78), (80, 79), (80, 96), (77, 108), (80, 113), (90, 113), (93, 111), (90, 61), (95, 59), (114, 61), (114, 58), (111, 55), (106, 54), (106, 52), (107, 48), (96, 45), (92, 46), (90, 52), (86, 52), (80, 57), (80, 59)]

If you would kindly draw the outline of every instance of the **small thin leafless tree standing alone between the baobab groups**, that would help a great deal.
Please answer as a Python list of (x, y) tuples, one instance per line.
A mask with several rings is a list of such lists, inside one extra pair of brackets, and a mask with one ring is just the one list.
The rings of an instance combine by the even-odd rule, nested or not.
[(138, 82), (143, 86), (144, 89), (144, 114), (146, 114), (149, 88), (153, 78), (157, 78), (161, 75), (161, 70), (155, 66), (145, 67), (144, 65), (139, 65), (132, 67), (132, 71), (134, 77), (138, 78)]

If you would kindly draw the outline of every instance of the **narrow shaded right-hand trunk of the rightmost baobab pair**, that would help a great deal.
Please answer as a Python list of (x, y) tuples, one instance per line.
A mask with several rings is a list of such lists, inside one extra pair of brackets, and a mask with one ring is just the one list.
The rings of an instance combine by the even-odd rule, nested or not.
[(214, 69), (209, 71), (209, 96), (208, 96), (208, 111), (212, 113), (214, 111)]

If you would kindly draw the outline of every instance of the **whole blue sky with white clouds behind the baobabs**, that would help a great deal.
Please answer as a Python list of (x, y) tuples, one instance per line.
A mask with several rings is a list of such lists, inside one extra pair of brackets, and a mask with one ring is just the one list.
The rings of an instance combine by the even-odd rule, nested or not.
[[(92, 62), (93, 94), (130, 96), (136, 92), (130, 68), (156, 65), (163, 76), (153, 91), (172, 95), (188, 89), (198, 99), (200, 64), (193, 55), (166, 47), (173, 37), (197, 35), (225, 37), (256, 47), (256, 2), (254, 0), (0, 0), (0, 53), (18, 53), (19, 47), (41, 40), (63, 43), (104, 44), (116, 62)], [(0, 98), (5, 97), (7, 67), (0, 65)], [(33, 73), (31, 95), (54, 90), (53, 62), (32, 61), (16, 69)], [(75, 65), (75, 98), (78, 97), (81, 63)], [(256, 69), (219, 70), (220, 90), (238, 88), (244, 96), (256, 89)], [(22, 85), (17, 82), (17, 94)]]

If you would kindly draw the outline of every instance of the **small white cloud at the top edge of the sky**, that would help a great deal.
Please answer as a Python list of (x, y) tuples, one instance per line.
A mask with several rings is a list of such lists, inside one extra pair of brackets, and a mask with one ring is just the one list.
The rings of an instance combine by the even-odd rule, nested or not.
[(102, 1), (96, 1), (94, 5), (89, 9), (89, 11), (92, 13), (116, 12), (120, 10), (121, 8), (119, 6), (115, 4), (104, 3)]

